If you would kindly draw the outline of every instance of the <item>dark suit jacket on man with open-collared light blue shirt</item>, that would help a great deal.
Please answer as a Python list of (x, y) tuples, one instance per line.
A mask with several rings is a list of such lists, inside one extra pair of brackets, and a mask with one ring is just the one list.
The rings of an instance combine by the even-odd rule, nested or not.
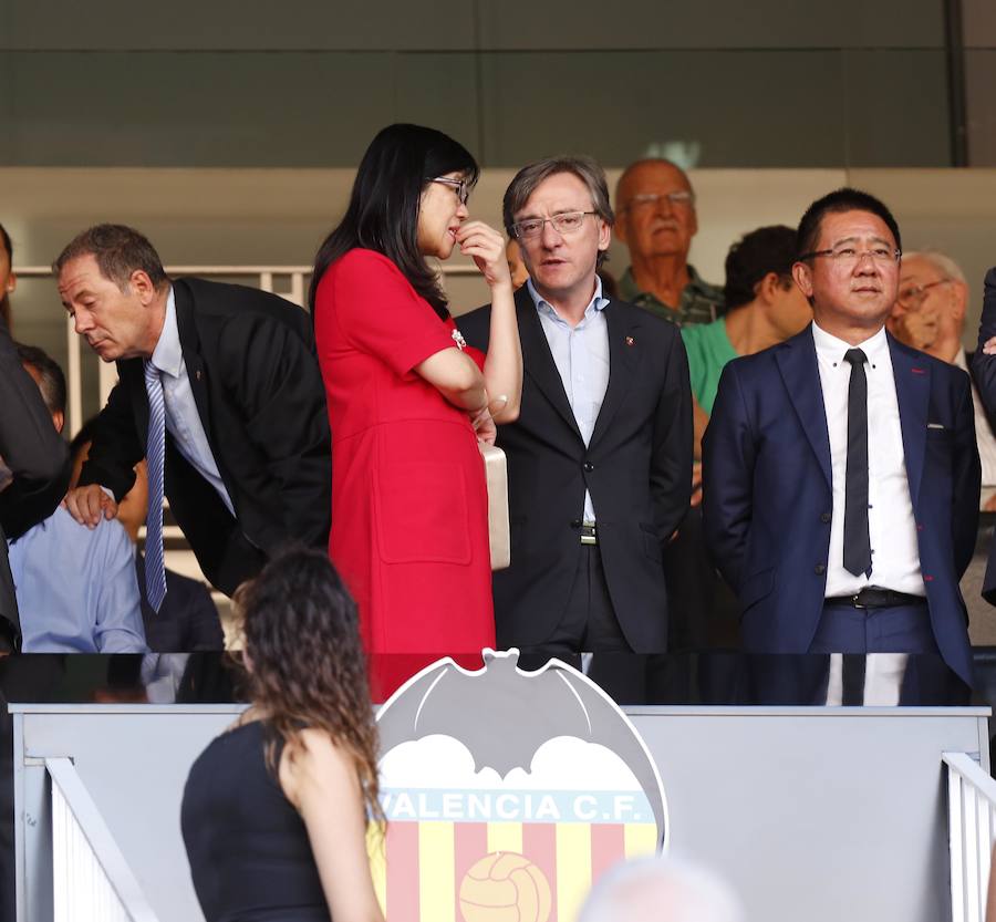
[[(692, 397), (676, 328), (624, 301), (610, 301), (609, 386), (584, 446), (560, 374), (526, 288), (516, 294), (525, 375), (515, 423), (499, 426), (508, 456), (511, 566), (495, 573), (501, 646), (546, 641), (561, 620), (581, 561), (585, 487), (599, 550), (626, 640), (663, 652), (667, 598), (664, 545), (688, 509)], [(457, 319), (487, 350), (490, 308)]]

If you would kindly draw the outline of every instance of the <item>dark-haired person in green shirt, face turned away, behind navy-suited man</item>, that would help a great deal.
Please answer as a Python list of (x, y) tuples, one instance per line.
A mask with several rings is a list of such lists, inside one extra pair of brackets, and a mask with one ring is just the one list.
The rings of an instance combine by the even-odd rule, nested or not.
[(801, 332), (812, 320), (809, 301), (792, 280), (796, 231), (776, 225), (745, 235), (726, 257), (727, 313), (713, 323), (682, 328), (692, 394), (712, 414), (724, 365)]

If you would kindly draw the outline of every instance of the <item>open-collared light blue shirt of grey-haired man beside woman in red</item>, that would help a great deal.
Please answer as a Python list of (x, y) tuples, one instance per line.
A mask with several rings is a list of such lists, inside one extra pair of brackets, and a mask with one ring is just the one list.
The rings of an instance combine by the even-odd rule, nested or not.
[[(609, 387), (609, 323), (602, 313), (609, 299), (602, 297), (602, 280), (595, 276), (594, 297), (577, 327), (568, 323), (549, 301), (543, 300), (532, 279), (526, 286), (539, 313), (574, 421), (588, 445)], [(583, 517), (584, 521), (595, 520), (588, 490), (584, 490)]]

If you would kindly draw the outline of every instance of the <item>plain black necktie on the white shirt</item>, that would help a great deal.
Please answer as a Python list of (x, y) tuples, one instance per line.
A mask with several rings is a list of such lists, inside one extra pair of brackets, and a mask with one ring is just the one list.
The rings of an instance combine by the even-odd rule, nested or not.
[(864, 353), (849, 349), (848, 473), (844, 483), (844, 569), (855, 577), (871, 573), (871, 540), (868, 537), (868, 379)]

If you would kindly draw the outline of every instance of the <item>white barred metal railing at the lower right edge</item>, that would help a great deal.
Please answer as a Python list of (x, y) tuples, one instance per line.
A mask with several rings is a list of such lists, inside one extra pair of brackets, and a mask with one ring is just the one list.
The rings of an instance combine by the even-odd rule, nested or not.
[(983, 922), (996, 840), (996, 780), (965, 753), (944, 753), (942, 759), (947, 766), (951, 918)]

